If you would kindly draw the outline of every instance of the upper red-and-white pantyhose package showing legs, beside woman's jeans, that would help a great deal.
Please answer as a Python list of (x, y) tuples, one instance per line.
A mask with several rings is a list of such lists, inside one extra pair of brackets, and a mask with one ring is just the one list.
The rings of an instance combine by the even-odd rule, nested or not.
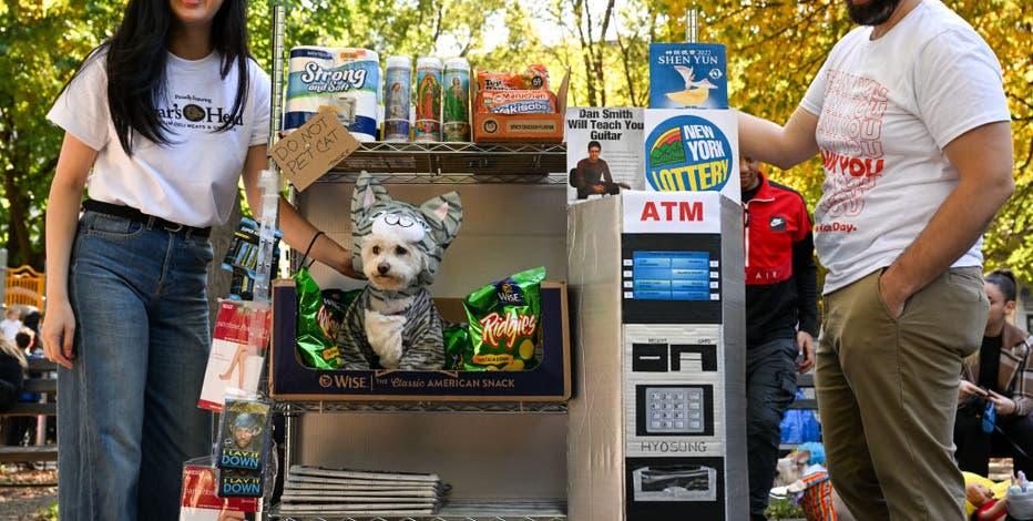
[(268, 306), (219, 300), (197, 407), (221, 412), (227, 398), (257, 396), (272, 324)]

